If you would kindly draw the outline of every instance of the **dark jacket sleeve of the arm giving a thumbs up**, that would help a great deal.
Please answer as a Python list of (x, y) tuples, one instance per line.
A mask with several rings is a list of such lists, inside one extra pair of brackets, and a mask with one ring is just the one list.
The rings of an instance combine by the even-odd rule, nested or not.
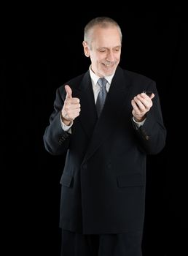
[(64, 154), (67, 151), (71, 137), (68, 132), (63, 131), (60, 125), (60, 110), (63, 108), (65, 95), (63, 87), (57, 89), (50, 124), (43, 135), (45, 149), (54, 155)]

